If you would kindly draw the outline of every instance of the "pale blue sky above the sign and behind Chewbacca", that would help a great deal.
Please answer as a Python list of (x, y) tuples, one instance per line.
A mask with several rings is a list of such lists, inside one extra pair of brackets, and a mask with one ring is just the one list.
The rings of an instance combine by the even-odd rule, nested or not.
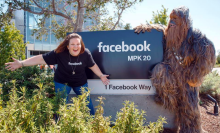
[(145, 24), (146, 20), (150, 22), (152, 12), (160, 11), (162, 5), (168, 8), (168, 15), (176, 7), (188, 7), (193, 27), (200, 29), (220, 52), (220, 0), (144, 0), (127, 9), (122, 15), (122, 22), (130, 23), (132, 28)]

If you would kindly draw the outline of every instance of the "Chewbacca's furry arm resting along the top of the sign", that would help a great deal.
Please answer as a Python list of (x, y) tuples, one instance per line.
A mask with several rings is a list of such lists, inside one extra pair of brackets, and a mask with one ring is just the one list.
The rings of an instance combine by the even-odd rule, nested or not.
[(156, 29), (158, 31), (164, 32), (165, 28), (166, 28), (166, 26), (164, 26), (162, 24), (141, 24), (139, 26), (136, 26), (134, 28), (134, 30), (137, 33), (140, 33), (141, 31), (142, 32), (145, 32), (145, 31), (150, 32), (151, 29)]

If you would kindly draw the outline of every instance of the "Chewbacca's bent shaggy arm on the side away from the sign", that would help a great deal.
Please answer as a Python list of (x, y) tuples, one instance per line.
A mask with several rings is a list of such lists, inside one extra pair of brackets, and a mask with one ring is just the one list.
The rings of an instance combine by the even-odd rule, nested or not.
[(188, 84), (198, 87), (202, 84), (203, 77), (212, 71), (215, 65), (215, 48), (213, 43), (199, 30), (193, 32), (192, 47), (190, 49), (194, 60), (187, 67)]

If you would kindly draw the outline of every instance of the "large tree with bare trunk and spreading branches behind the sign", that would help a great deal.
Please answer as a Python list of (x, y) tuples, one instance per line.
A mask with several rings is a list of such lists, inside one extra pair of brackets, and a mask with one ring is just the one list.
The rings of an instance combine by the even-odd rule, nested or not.
[[(122, 13), (143, 0), (11, 0), (12, 10), (24, 10), (39, 15), (38, 29), (34, 29), (37, 39), (52, 30), (57, 39), (66, 32), (80, 32), (83, 23), (94, 22), (90, 30), (114, 30), (120, 23)], [(108, 4), (114, 4), (114, 16), (109, 16)], [(58, 19), (59, 17), (59, 19)], [(46, 20), (52, 18), (52, 26), (46, 27)]]

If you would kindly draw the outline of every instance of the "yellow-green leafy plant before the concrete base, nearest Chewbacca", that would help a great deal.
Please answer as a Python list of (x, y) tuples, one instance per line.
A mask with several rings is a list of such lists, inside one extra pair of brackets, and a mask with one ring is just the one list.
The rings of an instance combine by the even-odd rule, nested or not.
[(145, 111), (139, 111), (133, 102), (125, 101), (124, 108), (117, 113), (117, 119), (114, 128), (117, 133), (159, 133), (163, 130), (165, 118), (159, 117), (157, 122), (150, 122), (144, 126), (146, 115)]

